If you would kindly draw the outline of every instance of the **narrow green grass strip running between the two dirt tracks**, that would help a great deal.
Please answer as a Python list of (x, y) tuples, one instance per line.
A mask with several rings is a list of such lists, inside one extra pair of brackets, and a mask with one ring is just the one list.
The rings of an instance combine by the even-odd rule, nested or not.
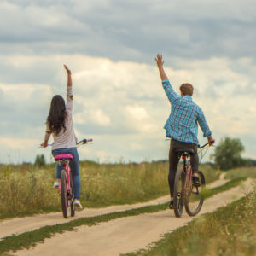
[[(236, 186), (237, 184), (238, 184), (237, 182), (226, 183), (223, 186), (219, 187), (218, 189), (217, 188), (211, 189), (212, 192), (208, 193), (206, 196), (211, 197), (212, 195), (228, 190)], [(75, 230), (76, 227), (81, 225), (90, 226), (90, 225), (99, 224), (101, 222), (107, 222), (109, 220), (113, 220), (116, 218), (125, 218), (125, 217), (131, 217), (131, 216), (143, 214), (143, 213), (159, 212), (161, 210), (165, 210), (167, 206), (168, 206), (168, 203), (165, 203), (165, 204), (148, 206), (148, 207), (140, 207), (137, 209), (132, 209), (124, 212), (112, 212), (112, 213), (108, 213), (108, 214), (104, 214), (96, 217), (79, 218), (65, 224), (45, 226), (38, 230), (26, 232), (18, 236), (7, 236), (3, 238), (3, 241), (0, 241), (0, 254), (9, 252), (10, 250), (14, 250), (14, 251), (19, 250), (22, 247), (26, 247), (26, 248), (31, 247), (35, 245), (37, 242), (44, 241), (45, 238), (55, 236), (55, 234), (65, 232), (67, 230), (73, 231)]]

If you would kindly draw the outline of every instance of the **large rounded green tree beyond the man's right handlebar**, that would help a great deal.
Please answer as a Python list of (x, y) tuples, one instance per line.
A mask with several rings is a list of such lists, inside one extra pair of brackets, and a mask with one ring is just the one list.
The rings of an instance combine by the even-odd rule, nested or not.
[(239, 138), (224, 137), (215, 148), (212, 158), (221, 170), (228, 170), (238, 166), (246, 165), (241, 158), (244, 146)]

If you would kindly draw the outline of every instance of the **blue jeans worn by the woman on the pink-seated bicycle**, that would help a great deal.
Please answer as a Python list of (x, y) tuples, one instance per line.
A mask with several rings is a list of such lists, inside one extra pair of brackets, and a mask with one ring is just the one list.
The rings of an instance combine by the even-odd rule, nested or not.
[[(55, 156), (57, 154), (72, 154), (73, 160), (69, 162), (69, 166), (71, 169), (72, 177), (73, 177), (73, 192), (74, 198), (80, 198), (80, 176), (79, 176), (79, 154), (77, 148), (57, 148), (52, 150), (52, 155)], [(57, 164), (56, 166), (56, 178), (61, 178), (61, 169), (62, 166)]]

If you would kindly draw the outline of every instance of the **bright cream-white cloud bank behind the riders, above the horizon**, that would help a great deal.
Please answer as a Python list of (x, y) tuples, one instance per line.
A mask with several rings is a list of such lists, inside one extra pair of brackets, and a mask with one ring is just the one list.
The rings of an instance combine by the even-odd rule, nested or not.
[[(10, 60), (19, 60), (26, 68), (22, 79), (7, 76), (0, 70), (0, 76), (9, 78), (0, 84), (0, 128), (2, 137), (6, 138), (2, 141), (1, 161), (7, 159), (8, 152), (16, 152), (14, 161), (18, 152), (21, 160), (34, 160), (35, 152), (46, 152), (46, 158), (50, 159), (50, 148), (35, 149), (44, 139), (51, 97), (66, 93), (63, 62), (68, 63), (73, 73), (73, 124), (77, 137), (93, 137), (95, 141), (79, 149), (81, 159), (100, 157), (118, 161), (120, 157), (125, 160), (167, 157), (169, 145), (165, 142), (163, 125), (171, 106), (155, 65), (88, 55), (7, 55), (10, 69), (17, 65)], [(177, 63), (177, 68), (171, 66), (172, 61)], [(218, 140), (225, 135), (252, 136), (256, 125), (253, 77), (256, 66), (251, 59), (187, 61), (174, 58), (172, 61), (167, 60), (165, 65), (173, 88), (178, 91), (179, 84), (185, 81), (194, 84), (194, 100), (203, 108), (213, 137)], [(55, 72), (46, 67), (52, 67)], [(239, 72), (238, 67), (241, 67)], [(35, 70), (38, 81), (26, 79), (26, 74)], [(43, 81), (40, 72), (44, 74)], [(205, 142), (202, 137), (200, 141)], [(249, 140), (245, 146), (250, 152), (253, 150)]]

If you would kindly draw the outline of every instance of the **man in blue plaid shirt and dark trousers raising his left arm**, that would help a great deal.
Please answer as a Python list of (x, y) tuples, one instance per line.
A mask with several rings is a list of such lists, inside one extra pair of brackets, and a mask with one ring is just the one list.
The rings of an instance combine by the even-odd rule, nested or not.
[(201, 186), (200, 179), (198, 176), (198, 165), (199, 159), (197, 154), (198, 146), (198, 124), (204, 133), (204, 137), (207, 137), (208, 143), (212, 145), (215, 141), (212, 138), (212, 132), (207, 125), (204, 113), (201, 108), (195, 104), (192, 100), (193, 86), (192, 84), (182, 84), (180, 86), (179, 96), (172, 88), (169, 79), (164, 71), (164, 61), (162, 55), (157, 55), (155, 58), (157, 66), (160, 72), (160, 78), (162, 85), (166, 91), (169, 101), (171, 102), (172, 108), (169, 118), (166, 121), (164, 128), (166, 129), (166, 137), (171, 138), (170, 151), (169, 151), (169, 175), (168, 183), (170, 187), (171, 201), (169, 208), (173, 209), (173, 187), (175, 174), (177, 171), (177, 164), (179, 158), (175, 153), (177, 148), (193, 148), (194, 154), (190, 154), (190, 162), (193, 172), (193, 183), (195, 186)]

